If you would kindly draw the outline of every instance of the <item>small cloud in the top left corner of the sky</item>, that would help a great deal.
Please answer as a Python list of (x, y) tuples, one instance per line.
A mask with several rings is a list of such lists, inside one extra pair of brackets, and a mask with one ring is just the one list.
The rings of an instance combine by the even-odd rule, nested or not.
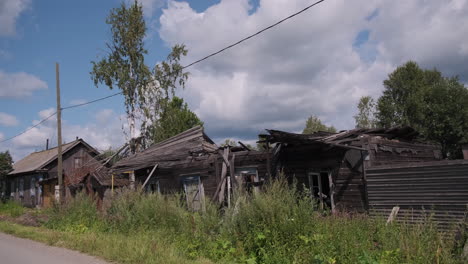
[(0, 36), (11, 36), (16, 32), (16, 20), (31, 6), (31, 0), (0, 1)]

